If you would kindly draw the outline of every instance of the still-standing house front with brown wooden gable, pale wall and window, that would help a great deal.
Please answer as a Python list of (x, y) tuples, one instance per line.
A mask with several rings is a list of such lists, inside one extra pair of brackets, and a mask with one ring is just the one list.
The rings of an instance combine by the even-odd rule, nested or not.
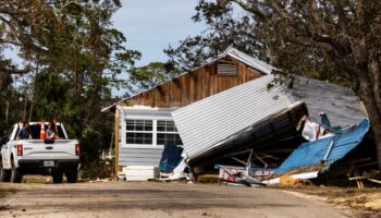
[[(231, 47), (208, 64), (103, 108), (115, 114), (116, 171), (132, 172), (127, 180), (144, 179), (145, 172), (152, 177), (163, 145), (182, 144), (172, 111), (271, 71), (271, 65)], [(142, 173), (134, 174), (135, 169)]]

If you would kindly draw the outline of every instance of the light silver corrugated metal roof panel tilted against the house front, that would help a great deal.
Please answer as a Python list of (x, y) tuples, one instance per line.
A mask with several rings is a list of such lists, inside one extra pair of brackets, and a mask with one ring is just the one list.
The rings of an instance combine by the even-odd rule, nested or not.
[(172, 112), (193, 158), (226, 137), (292, 105), (282, 88), (268, 89), (266, 75)]

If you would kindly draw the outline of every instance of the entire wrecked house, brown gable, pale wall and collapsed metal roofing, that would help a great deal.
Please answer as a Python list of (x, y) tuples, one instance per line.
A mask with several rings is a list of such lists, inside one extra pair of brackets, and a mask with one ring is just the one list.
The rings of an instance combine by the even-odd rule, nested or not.
[(190, 166), (206, 171), (247, 150), (250, 162), (278, 167), (303, 142), (296, 126), (304, 116), (327, 114), (343, 128), (366, 118), (349, 89), (305, 77), (292, 88), (270, 87), (272, 70), (230, 47), (206, 65), (106, 107), (115, 114), (118, 173), (127, 181), (157, 177), (167, 144), (182, 145)]

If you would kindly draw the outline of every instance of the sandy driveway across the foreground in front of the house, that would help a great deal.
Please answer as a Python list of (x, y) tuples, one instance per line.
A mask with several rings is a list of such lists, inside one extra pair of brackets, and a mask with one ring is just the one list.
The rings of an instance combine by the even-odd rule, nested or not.
[(320, 202), (256, 187), (111, 182), (17, 189), (0, 199), (0, 217), (345, 217)]

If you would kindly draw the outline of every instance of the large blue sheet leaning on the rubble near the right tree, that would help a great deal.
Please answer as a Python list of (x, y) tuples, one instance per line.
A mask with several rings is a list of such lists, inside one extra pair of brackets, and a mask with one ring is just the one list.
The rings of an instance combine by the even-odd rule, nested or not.
[[(354, 128), (334, 136), (302, 144), (278, 168), (276, 174), (283, 174), (293, 169), (314, 166), (323, 161), (327, 170), (333, 162), (343, 158), (362, 141), (369, 126), (369, 120), (365, 119)], [(331, 146), (332, 141), (333, 144)]]

